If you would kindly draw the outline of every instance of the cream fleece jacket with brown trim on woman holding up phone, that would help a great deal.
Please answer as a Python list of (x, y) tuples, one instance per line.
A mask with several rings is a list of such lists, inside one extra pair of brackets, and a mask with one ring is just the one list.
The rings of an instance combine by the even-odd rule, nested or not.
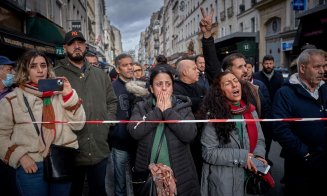
[[(19, 159), (28, 154), (35, 162), (43, 160), (38, 152), (39, 136), (31, 123), (31, 117), (24, 103), (23, 94), (28, 100), (35, 120), (42, 121), (43, 101), (21, 88), (15, 88), (0, 101), (0, 158), (14, 168), (17, 168)], [(75, 110), (69, 107), (78, 103), (78, 95), (74, 90), (73, 95), (63, 101), (62, 95), (52, 97), (53, 109), (56, 121), (85, 121), (85, 112), (82, 105)], [(66, 108), (66, 109), (65, 109)], [(41, 130), (41, 124), (38, 124)], [(73, 131), (81, 130), (84, 123), (56, 124), (56, 136), (54, 144), (78, 148), (77, 137)], [(12, 151), (12, 153), (9, 153)], [(7, 157), (6, 157), (7, 155)], [(10, 155), (10, 156), (8, 156)], [(7, 158), (7, 159), (6, 159)]]

